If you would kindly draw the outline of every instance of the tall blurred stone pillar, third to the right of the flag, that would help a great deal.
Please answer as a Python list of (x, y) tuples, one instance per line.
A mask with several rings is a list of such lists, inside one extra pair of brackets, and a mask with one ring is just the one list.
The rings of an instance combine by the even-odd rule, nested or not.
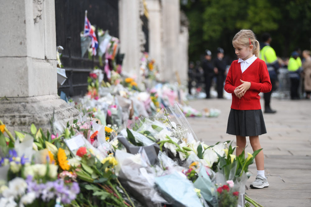
[(179, 0), (162, 0), (163, 48), (160, 74), (164, 81), (177, 81), (179, 71)]

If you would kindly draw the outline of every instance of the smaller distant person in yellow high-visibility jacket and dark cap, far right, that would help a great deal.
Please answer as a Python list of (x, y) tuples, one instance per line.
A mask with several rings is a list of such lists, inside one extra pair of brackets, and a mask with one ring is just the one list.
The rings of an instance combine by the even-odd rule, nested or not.
[(290, 77), (290, 99), (299, 99), (299, 82), (300, 82), (300, 73), (301, 69), (301, 59), (298, 58), (298, 52), (292, 52), (290, 59), (288, 61), (287, 69), (289, 71)]

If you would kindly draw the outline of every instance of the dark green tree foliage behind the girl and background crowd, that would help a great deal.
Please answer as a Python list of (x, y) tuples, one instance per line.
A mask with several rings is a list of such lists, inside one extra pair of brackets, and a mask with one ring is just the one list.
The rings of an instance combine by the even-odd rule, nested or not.
[[(288, 57), (295, 48), (310, 50), (311, 1), (308, 0), (196, 0), (181, 5), (189, 20), (189, 60), (200, 60), (217, 47), (235, 58), (232, 38), (240, 29), (272, 36), (276, 55)], [(215, 55), (215, 53), (213, 53)]]

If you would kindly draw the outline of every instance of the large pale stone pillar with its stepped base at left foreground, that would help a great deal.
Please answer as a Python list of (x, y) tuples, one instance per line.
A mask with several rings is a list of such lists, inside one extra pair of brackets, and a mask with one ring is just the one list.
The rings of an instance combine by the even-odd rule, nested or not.
[[(54, 0), (0, 0), (0, 119), (12, 131), (50, 129), (79, 111), (57, 95)], [(4, 29), (6, 28), (6, 29)]]

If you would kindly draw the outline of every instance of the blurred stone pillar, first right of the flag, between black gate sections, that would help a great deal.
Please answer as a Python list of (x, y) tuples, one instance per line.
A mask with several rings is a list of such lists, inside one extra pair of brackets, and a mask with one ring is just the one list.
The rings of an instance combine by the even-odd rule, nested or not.
[(142, 0), (119, 0), (119, 37), (120, 52), (125, 53), (123, 60), (123, 72), (130, 76), (136, 76), (139, 81), (140, 59), (144, 34), (140, 15), (143, 13)]

